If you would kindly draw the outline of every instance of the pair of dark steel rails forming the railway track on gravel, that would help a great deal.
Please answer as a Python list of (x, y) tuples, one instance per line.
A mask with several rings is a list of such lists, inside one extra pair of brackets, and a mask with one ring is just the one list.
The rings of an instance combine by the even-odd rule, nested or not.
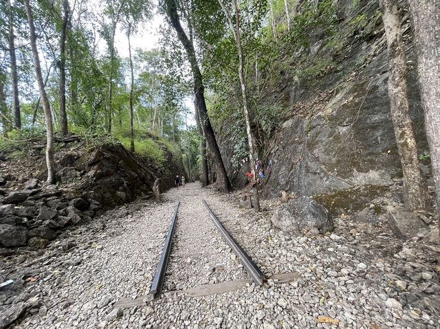
[[(256, 285), (263, 286), (265, 275), (261, 272), (259, 267), (256, 266), (254, 262), (252, 262), (252, 259), (243, 250), (243, 248), (236, 242), (236, 240), (230, 234), (230, 232), (227, 229), (225, 229), (219, 218), (217, 218), (214, 212), (212, 212), (212, 209), (210, 209), (208, 203), (203, 200), (203, 204), (206, 208), (207, 215), (210, 217), (212, 223), (214, 224), (214, 227), (217, 228), (217, 230), (223, 237), (223, 240), (232, 249), (236, 257), (238, 258), (239, 262), (241, 262), (241, 264), (243, 265), (243, 268), (248, 272), (249, 276), (252, 278), (252, 280)], [(171, 248), (173, 246), (173, 236), (175, 234), (175, 229), (177, 225), (177, 217), (178, 217), (177, 214), (179, 212), (179, 205), (180, 203), (177, 203), (175, 207), (175, 212), (173, 214), (173, 218), (171, 219), (170, 228), (168, 229), (168, 234), (166, 235), (166, 240), (164, 243), (164, 248), (162, 249), (162, 253), (159, 258), (159, 262), (157, 264), (157, 269), (155, 271), (153, 284), (151, 284), (150, 292), (146, 297), (148, 301), (159, 299), (162, 293), (162, 288), (164, 286), (164, 281), (166, 279), (166, 270), (167, 270), (168, 262), (170, 260)], [(197, 236), (197, 233), (199, 234), (199, 236)], [(203, 234), (200, 234), (199, 232), (195, 232), (195, 236), (193, 236), (192, 238), (197, 239), (201, 237), (203, 237)], [(182, 238), (182, 239), (188, 240), (188, 238)]]

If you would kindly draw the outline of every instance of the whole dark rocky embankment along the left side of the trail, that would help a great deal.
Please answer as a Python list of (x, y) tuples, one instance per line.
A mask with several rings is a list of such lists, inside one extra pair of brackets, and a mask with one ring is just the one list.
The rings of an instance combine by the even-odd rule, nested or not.
[(43, 248), (59, 230), (87, 223), (136, 198), (153, 195), (173, 184), (179, 172), (170, 152), (168, 168), (158, 168), (122, 144), (93, 146), (75, 139), (54, 155), (56, 185), (45, 185), (47, 169), (43, 155), (30, 153), (27, 161), (0, 162), (0, 250), (2, 247)]

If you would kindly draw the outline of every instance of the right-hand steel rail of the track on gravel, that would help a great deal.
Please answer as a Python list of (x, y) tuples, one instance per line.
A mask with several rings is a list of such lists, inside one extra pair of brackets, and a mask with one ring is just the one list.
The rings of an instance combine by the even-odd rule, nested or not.
[(208, 209), (214, 225), (217, 227), (217, 229), (219, 229), (221, 235), (223, 236), (223, 238), (225, 238), (226, 242), (228, 242), (228, 245), (232, 248), (232, 251), (234, 251), (235, 255), (239, 258), (241, 264), (243, 264), (246, 271), (248, 271), (248, 273), (252, 277), (252, 280), (254, 280), (255, 284), (263, 286), (265, 275), (261, 273), (260, 269), (256, 266), (254, 262), (252, 262), (248, 254), (243, 250), (243, 248), (240, 247), (236, 240), (232, 238), (232, 236), (230, 235), (228, 230), (225, 229), (223, 224), (220, 223), (220, 220), (214, 215), (214, 213), (208, 206), (208, 203), (206, 203), (206, 201), (204, 200), (203, 203), (205, 203), (206, 209)]

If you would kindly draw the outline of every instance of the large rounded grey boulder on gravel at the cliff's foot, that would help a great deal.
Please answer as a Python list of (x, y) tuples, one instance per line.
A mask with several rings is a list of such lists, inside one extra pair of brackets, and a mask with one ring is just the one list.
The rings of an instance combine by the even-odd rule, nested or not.
[(307, 196), (300, 196), (281, 205), (272, 216), (272, 224), (286, 232), (301, 233), (316, 228), (331, 231), (333, 220), (325, 207)]

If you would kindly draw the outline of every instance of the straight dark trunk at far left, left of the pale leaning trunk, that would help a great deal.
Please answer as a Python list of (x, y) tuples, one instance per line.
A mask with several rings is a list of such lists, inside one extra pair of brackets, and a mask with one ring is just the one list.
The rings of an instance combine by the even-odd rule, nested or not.
[(14, 14), (12, 12), (11, 1), (9, 5), (9, 56), (11, 60), (11, 80), (12, 80), (12, 104), (14, 109), (14, 126), (21, 129), (21, 111), (19, 100), (19, 75), (17, 72), (17, 57), (15, 56), (15, 34), (14, 34)]

